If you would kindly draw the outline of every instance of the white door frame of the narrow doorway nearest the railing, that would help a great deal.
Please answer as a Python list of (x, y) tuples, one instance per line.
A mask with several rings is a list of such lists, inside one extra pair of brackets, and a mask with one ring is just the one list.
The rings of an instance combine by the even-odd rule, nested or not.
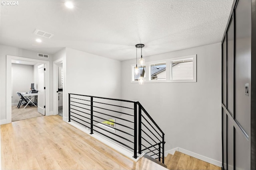
[[(53, 61), (53, 115), (58, 114), (58, 64), (62, 63), (63, 67), (64, 59), (58, 59)], [(65, 77), (64, 77), (65, 78)], [(63, 87), (64, 90), (64, 87)], [(62, 101), (63, 102), (63, 101)], [(64, 106), (64, 105), (63, 105)]]

